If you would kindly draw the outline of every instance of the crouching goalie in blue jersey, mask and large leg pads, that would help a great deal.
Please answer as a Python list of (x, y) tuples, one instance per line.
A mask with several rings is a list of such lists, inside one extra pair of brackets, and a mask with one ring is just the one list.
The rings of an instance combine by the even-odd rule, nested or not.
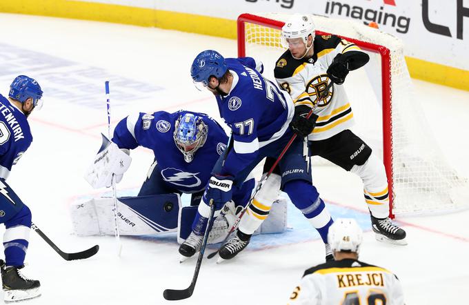
[[(112, 141), (97, 155), (86, 179), (95, 188), (110, 186), (130, 166), (128, 150), (143, 146), (154, 153), (154, 163), (137, 197), (120, 197), (118, 222), (121, 235), (154, 235), (179, 230), (178, 241), (190, 234), (211, 170), (226, 148), (228, 137), (223, 128), (208, 115), (180, 110), (151, 115), (137, 112), (117, 124)], [(217, 218), (210, 242), (220, 242), (246, 206), (254, 179), (234, 188), (223, 215)], [(191, 194), (191, 206), (181, 208), (181, 194)], [(91, 199), (72, 206), (72, 220), (77, 235), (113, 235), (112, 198)], [(179, 224), (178, 224), (179, 222)]]

